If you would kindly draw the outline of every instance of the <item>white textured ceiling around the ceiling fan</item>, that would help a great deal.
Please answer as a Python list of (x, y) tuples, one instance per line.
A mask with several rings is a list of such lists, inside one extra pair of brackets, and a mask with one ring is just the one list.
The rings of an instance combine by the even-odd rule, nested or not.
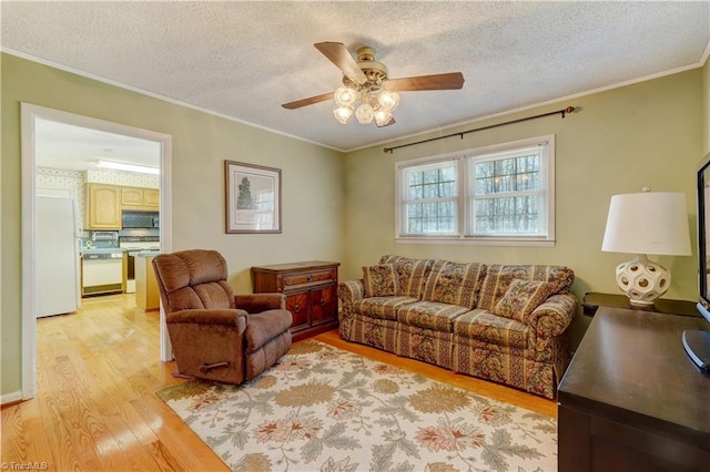
[[(702, 65), (710, 2), (12, 2), (2, 49), (348, 151)], [(347, 125), (339, 71), (314, 47), (374, 47), (390, 78), (460, 71), (463, 90), (404, 92), (396, 124)], [(570, 103), (574, 104), (574, 103)]]

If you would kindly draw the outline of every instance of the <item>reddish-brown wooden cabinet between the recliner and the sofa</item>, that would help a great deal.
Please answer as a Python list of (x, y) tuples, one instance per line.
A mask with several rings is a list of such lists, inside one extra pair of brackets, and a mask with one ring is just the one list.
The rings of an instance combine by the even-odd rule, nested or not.
[(337, 327), (337, 268), (339, 263), (310, 260), (252, 267), (254, 293), (286, 296), (293, 315), (294, 341)]

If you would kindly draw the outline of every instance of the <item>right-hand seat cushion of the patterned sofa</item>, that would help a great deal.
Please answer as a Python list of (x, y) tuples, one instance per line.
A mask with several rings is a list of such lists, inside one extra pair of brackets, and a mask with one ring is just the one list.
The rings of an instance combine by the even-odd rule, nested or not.
[(454, 320), (454, 334), (489, 345), (527, 349), (535, 330), (488, 310), (473, 310)]

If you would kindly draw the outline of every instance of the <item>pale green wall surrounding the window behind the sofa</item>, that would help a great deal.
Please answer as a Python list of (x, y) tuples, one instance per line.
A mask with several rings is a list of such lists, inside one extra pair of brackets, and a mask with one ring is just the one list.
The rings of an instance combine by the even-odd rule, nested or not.
[[(707, 69), (707, 68), (706, 68)], [(615, 268), (632, 256), (602, 253), (601, 240), (612, 195), (653, 191), (682, 192), (688, 199), (691, 234), (696, 228), (694, 170), (702, 157), (702, 70), (559, 102), (525, 112), (448, 129), (450, 134), (574, 105), (559, 115), (476, 132), (459, 137), (383, 153), (374, 146), (346, 155), (344, 278), (359, 277), (362, 266), (383, 254), (436, 257), (457, 261), (560, 264), (577, 276), (574, 293), (620, 293)], [(409, 96), (402, 98), (402, 101)], [(415, 100), (414, 98), (412, 100)], [(397, 244), (394, 239), (395, 163), (545, 134), (556, 135), (556, 229), (554, 248), (474, 245)], [(434, 137), (426, 134), (404, 144)], [(694, 246), (694, 244), (693, 244)], [(693, 249), (694, 250), (694, 249)], [(688, 257), (652, 257), (672, 271), (667, 297), (697, 298), (697, 263)], [(589, 320), (571, 327), (576, 346)]]

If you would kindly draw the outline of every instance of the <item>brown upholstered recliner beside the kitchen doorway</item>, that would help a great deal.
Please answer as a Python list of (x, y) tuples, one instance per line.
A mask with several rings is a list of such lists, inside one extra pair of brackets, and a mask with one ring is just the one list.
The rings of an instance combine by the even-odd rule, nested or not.
[(181, 376), (241, 383), (291, 348), (285, 296), (234, 296), (216, 250), (161, 254), (153, 269)]

